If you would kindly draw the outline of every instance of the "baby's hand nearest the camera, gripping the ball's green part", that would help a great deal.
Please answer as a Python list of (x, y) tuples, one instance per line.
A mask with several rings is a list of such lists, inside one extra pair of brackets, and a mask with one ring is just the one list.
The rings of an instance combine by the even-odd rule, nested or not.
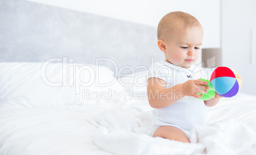
[(189, 97), (201, 98), (203, 94), (197, 95), (197, 93), (207, 93), (207, 90), (210, 90), (208, 83), (206, 81), (197, 80), (188, 80), (182, 84), (182, 91), (184, 95)]

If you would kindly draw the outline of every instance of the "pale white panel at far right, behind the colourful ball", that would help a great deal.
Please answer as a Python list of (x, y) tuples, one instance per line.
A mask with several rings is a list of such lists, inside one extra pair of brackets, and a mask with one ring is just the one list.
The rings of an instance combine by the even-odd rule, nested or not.
[(256, 95), (256, 64), (252, 64), (252, 57), (256, 62), (256, 34), (252, 43), (252, 29), (256, 31), (255, 6), (254, 0), (222, 2), (223, 62), (239, 72), (243, 80), (241, 92), (253, 95)]

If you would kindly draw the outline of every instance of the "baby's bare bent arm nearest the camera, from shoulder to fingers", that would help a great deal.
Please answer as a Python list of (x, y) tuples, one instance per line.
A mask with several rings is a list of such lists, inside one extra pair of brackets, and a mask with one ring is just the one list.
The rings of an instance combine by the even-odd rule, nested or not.
[(153, 108), (163, 108), (185, 96), (201, 98), (203, 95), (197, 93), (207, 93), (206, 81), (188, 80), (182, 84), (176, 84), (171, 88), (166, 88), (166, 81), (157, 77), (151, 77), (147, 81), (148, 102)]

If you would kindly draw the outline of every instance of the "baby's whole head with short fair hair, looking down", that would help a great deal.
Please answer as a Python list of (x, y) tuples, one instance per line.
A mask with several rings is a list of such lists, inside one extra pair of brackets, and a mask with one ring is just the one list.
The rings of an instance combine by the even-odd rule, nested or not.
[(189, 68), (199, 57), (203, 28), (192, 15), (174, 11), (160, 20), (157, 39), (167, 62)]

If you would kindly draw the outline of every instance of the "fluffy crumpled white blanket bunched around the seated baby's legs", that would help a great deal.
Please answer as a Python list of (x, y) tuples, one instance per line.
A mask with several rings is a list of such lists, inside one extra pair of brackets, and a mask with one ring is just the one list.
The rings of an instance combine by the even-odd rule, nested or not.
[(106, 111), (95, 119), (99, 125), (94, 142), (115, 154), (240, 154), (256, 143), (255, 132), (235, 119), (195, 126), (190, 133), (190, 144), (153, 138), (150, 114), (150, 111)]

